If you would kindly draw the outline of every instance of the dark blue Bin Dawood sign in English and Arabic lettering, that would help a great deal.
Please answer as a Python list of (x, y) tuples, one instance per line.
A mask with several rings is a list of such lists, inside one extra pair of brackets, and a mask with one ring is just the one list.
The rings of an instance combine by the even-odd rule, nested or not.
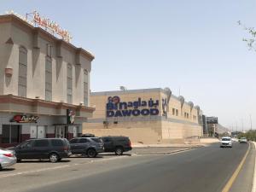
[(150, 98), (148, 101), (138, 97), (131, 102), (121, 102), (119, 96), (109, 96), (107, 103), (107, 117), (131, 117), (159, 114), (159, 100)]

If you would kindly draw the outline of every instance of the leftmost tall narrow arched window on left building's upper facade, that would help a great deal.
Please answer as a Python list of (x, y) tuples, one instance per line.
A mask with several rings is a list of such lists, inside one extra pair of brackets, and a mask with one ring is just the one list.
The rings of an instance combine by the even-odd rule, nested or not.
[(24, 47), (20, 47), (18, 96), (26, 97), (26, 73), (27, 73), (27, 51)]

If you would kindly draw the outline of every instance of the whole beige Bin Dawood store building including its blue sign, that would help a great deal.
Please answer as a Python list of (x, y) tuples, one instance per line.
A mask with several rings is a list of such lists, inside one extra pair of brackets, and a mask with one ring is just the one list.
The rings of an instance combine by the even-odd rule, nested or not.
[(90, 104), (96, 111), (83, 133), (123, 135), (133, 143), (183, 143), (202, 136), (201, 109), (168, 88), (93, 92)]

